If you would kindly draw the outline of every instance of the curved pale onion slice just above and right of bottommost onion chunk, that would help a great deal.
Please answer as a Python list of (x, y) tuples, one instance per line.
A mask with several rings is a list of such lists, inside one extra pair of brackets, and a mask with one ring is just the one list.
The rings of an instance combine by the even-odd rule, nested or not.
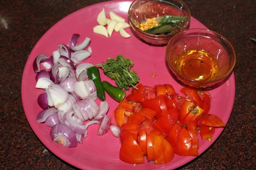
[(64, 123), (68, 125), (75, 133), (84, 134), (86, 133), (86, 127), (80, 125), (73, 119), (74, 110), (70, 110), (64, 115)]

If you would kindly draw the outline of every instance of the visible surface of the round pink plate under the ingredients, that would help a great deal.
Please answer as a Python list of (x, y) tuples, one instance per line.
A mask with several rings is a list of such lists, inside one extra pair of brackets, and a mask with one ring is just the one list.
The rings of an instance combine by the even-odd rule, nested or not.
[[(86, 37), (91, 38), (92, 56), (86, 60), (88, 63), (97, 64), (105, 62), (108, 57), (115, 58), (122, 54), (130, 58), (134, 63), (135, 70), (140, 83), (147, 86), (156, 84), (172, 84), (178, 92), (182, 85), (170, 74), (165, 60), (165, 46), (148, 45), (133, 34), (131, 28), (125, 30), (132, 35), (131, 38), (122, 38), (119, 33), (114, 32), (110, 38), (93, 33), (93, 27), (97, 25), (97, 15), (104, 7), (106, 16), (113, 11), (128, 20), (127, 11), (131, 1), (109, 1), (95, 4), (78, 10), (57, 22), (34, 46), (26, 63), (22, 79), (22, 101), (28, 122), (44, 145), (60, 159), (81, 169), (174, 169), (180, 167), (196, 157), (175, 156), (175, 158), (164, 165), (156, 165), (153, 161), (134, 166), (119, 160), (120, 141), (111, 132), (102, 136), (96, 135), (98, 125), (89, 127), (88, 137), (83, 143), (78, 143), (76, 148), (66, 148), (57, 142), (52, 141), (50, 129), (45, 124), (36, 122), (37, 113), (41, 110), (37, 104), (37, 97), (42, 92), (36, 89), (36, 74), (33, 71), (32, 63), (39, 54), (52, 55), (57, 50), (58, 44), (67, 44), (72, 34), (80, 34), (80, 41)], [(206, 28), (195, 18), (191, 17), (189, 28)], [(153, 76), (154, 75), (154, 76)], [(102, 80), (109, 78), (103, 75)], [(113, 83), (113, 82), (112, 82)], [(217, 114), (227, 124), (233, 107), (235, 80), (234, 74), (220, 86), (209, 91), (212, 96), (210, 112)], [(117, 106), (117, 102), (108, 95), (106, 100), (110, 103), (109, 115)], [(112, 116), (113, 117), (113, 116)], [(114, 118), (112, 122), (115, 123)], [(211, 142), (200, 140), (199, 154), (202, 154), (219, 137), (223, 128), (216, 129), (216, 134)]]

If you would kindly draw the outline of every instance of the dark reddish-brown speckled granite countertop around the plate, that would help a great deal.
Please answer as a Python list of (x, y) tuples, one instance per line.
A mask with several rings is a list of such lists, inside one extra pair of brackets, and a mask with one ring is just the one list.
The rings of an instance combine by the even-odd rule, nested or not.
[[(38, 140), (22, 104), (26, 60), (39, 38), (63, 17), (102, 1), (1, 1), (0, 169), (74, 169)], [(256, 169), (256, 1), (184, 0), (191, 15), (225, 36), (237, 54), (236, 98), (223, 133), (201, 156), (180, 169)]]

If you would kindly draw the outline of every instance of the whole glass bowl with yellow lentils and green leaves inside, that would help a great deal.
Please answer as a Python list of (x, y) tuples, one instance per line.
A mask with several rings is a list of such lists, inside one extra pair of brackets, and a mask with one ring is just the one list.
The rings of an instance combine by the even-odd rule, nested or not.
[(181, 0), (135, 0), (128, 17), (139, 38), (152, 45), (166, 45), (188, 27), (190, 11)]

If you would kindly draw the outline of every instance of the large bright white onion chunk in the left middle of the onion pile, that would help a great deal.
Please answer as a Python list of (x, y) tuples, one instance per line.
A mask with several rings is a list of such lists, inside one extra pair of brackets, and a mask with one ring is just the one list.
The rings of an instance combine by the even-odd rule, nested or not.
[(68, 91), (60, 87), (58, 84), (49, 85), (48, 90), (55, 108), (58, 108), (65, 103), (69, 97)]

